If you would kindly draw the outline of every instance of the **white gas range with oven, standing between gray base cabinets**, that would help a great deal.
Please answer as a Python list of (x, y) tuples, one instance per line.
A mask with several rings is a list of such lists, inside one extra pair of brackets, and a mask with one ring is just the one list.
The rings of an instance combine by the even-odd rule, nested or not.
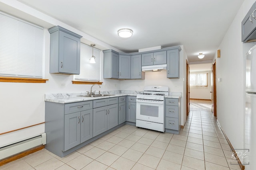
[(164, 132), (164, 96), (168, 86), (146, 86), (136, 98), (136, 126)]

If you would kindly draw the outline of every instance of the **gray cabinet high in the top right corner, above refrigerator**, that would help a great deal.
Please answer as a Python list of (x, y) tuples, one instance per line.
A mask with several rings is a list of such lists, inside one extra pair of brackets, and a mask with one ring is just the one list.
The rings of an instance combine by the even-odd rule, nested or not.
[(242, 20), (242, 42), (256, 39), (256, 3), (252, 5), (244, 20)]

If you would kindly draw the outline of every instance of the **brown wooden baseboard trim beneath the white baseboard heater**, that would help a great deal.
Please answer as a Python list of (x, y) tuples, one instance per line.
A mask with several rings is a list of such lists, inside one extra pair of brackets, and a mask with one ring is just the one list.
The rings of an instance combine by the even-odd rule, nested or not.
[(29, 154), (32, 154), (32, 153), (37, 152), (38, 150), (42, 150), (42, 149), (44, 149), (44, 145), (40, 145), (38, 147), (34, 147), (29, 150), (25, 150), (24, 152), (20, 152), (18, 154), (8, 157), (8, 158), (2, 159), (2, 160), (0, 160), (0, 166), (8, 164), (14, 160), (20, 159), (24, 156), (27, 156)]

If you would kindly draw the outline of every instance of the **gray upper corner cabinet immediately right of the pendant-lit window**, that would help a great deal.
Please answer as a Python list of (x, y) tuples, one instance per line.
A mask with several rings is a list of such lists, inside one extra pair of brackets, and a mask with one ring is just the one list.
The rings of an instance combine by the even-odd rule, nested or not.
[(103, 78), (119, 78), (119, 53), (114, 50), (104, 50)]

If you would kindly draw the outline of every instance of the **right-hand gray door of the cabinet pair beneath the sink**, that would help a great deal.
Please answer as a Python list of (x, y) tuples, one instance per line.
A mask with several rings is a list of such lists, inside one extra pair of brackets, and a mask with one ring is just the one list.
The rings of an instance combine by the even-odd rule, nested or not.
[(108, 129), (118, 125), (118, 104), (108, 106)]

